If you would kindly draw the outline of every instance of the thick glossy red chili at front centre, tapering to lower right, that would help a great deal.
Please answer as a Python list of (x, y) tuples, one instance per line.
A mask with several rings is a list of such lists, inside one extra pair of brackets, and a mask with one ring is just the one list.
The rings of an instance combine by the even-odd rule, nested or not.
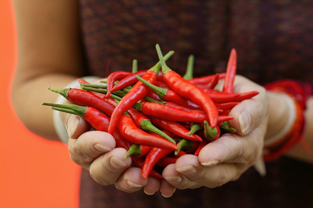
[[(109, 126), (110, 128), (110, 126)], [(118, 122), (118, 129), (122, 136), (129, 142), (136, 145), (153, 146), (169, 150), (177, 150), (174, 143), (167, 141), (163, 137), (156, 137), (138, 129), (129, 115), (122, 115)]]

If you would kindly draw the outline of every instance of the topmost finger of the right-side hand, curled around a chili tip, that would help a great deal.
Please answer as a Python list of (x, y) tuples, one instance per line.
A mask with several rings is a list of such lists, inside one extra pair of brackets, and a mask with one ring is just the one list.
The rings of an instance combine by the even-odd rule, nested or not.
[(234, 119), (229, 124), (237, 129), (237, 134), (246, 135), (267, 120), (268, 102), (265, 89), (242, 76), (236, 76), (234, 89), (236, 92), (258, 91), (259, 94), (236, 105), (229, 113)]

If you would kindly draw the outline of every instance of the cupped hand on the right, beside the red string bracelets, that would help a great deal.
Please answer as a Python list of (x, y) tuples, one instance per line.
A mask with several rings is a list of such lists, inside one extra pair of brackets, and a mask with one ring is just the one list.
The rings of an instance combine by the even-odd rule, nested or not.
[(236, 76), (234, 91), (258, 91), (252, 99), (244, 100), (229, 113), (229, 123), (236, 134), (224, 134), (210, 142), (195, 155), (183, 155), (168, 165), (163, 177), (178, 189), (207, 186), (214, 188), (237, 180), (260, 157), (268, 123), (268, 98), (265, 89), (242, 76)]

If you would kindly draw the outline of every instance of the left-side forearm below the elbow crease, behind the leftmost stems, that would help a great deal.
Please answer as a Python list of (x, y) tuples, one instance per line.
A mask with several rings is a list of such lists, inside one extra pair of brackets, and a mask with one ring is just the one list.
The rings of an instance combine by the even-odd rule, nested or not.
[(49, 87), (64, 88), (76, 76), (67, 74), (43, 74), (29, 80), (15, 80), (12, 88), (13, 105), (26, 127), (44, 138), (58, 140), (53, 125), (53, 111), (42, 102), (54, 103), (58, 94)]

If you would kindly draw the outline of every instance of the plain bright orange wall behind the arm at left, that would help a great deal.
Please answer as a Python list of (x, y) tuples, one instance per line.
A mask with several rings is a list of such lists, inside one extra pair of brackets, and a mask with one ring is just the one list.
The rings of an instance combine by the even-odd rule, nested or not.
[(78, 207), (80, 167), (67, 147), (32, 134), (14, 113), (17, 43), (12, 0), (0, 1), (0, 207)]

